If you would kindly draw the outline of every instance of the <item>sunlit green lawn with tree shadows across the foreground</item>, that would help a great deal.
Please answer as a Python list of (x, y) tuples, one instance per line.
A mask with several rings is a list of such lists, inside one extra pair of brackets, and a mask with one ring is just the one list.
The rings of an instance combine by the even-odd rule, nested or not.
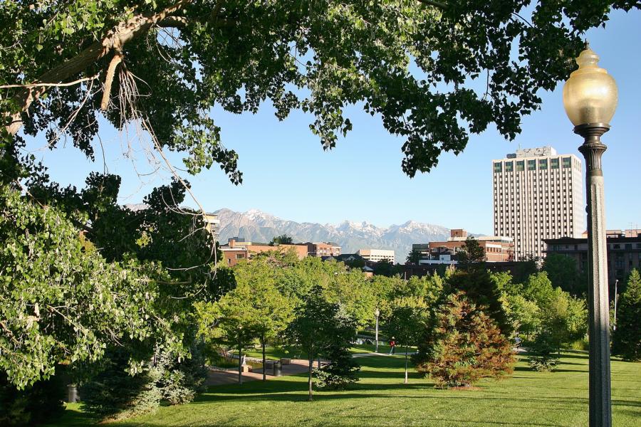
[[(437, 390), (403, 359), (363, 357), (361, 380), (348, 391), (317, 392), (306, 401), (304, 376), (212, 387), (192, 404), (163, 407), (115, 426), (563, 426), (588, 425), (588, 360), (565, 354), (557, 371), (531, 371), (521, 358), (514, 375), (481, 381), (476, 390)], [(641, 423), (641, 364), (613, 361), (613, 425)], [(58, 426), (90, 423), (77, 405)]]

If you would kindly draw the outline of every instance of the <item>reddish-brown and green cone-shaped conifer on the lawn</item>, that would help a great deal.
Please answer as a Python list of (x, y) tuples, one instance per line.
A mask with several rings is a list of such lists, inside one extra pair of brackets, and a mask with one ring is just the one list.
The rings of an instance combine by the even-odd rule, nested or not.
[(431, 376), (437, 386), (469, 387), (481, 378), (510, 373), (514, 354), (482, 307), (457, 292), (434, 311), (416, 360), (418, 371)]

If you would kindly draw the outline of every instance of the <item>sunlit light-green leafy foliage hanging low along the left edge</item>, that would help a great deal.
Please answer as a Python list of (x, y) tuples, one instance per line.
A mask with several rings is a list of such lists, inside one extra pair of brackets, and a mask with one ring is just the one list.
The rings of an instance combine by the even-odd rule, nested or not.
[(53, 374), (60, 362), (96, 361), (123, 334), (162, 335), (179, 347), (168, 322), (151, 320), (166, 279), (153, 263), (108, 263), (55, 207), (0, 187), (0, 368), (19, 388)]

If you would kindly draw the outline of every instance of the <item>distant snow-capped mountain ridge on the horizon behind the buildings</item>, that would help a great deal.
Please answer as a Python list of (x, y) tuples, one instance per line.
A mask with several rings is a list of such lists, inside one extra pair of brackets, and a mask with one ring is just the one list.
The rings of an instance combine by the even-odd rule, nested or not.
[(251, 209), (236, 212), (219, 209), (214, 214), (220, 220), (220, 241), (241, 237), (248, 241), (267, 243), (275, 236), (287, 234), (295, 242), (335, 242), (342, 253), (355, 253), (359, 249), (393, 249), (397, 263), (405, 263), (412, 251), (412, 243), (444, 241), (449, 237), (449, 228), (416, 221), (386, 228), (377, 227), (367, 221), (343, 221), (338, 225), (319, 223), (298, 223), (278, 218), (271, 214)]

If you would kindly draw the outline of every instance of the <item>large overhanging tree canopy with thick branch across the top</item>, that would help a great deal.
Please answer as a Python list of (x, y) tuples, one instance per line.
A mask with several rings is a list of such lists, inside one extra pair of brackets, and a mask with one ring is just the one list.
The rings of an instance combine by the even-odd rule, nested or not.
[[(222, 146), (210, 110), (256, 112), (269, 100), (281, 120), (293, 109), (310, 113), (326, 149), (352, 128), (345, 107), (362, 105), (405, 139), (402, 168), (414, 176), (491, 123), (516, 137), (521, 117), (541, 103), (539, 90), (573, 68), (583, 32), (607, 21), (610, 8), (634, 7), (632, 0), (8, 0), (0, 6), (0, 165), (20, 164), (21, 126), (26, 135), (48, 131), (51, 147), (58, 126), (93, 157), (96, 115), (116, 127), (145, 117), (160, 147), (187, 152), (189, 172), (218, 163), (237, 183), (236, 154)], [(104, 85), (89, 95), (86, 82), (68, 85), (95, 75)], [(127, 92), (131, 82), (144, 96)]]

